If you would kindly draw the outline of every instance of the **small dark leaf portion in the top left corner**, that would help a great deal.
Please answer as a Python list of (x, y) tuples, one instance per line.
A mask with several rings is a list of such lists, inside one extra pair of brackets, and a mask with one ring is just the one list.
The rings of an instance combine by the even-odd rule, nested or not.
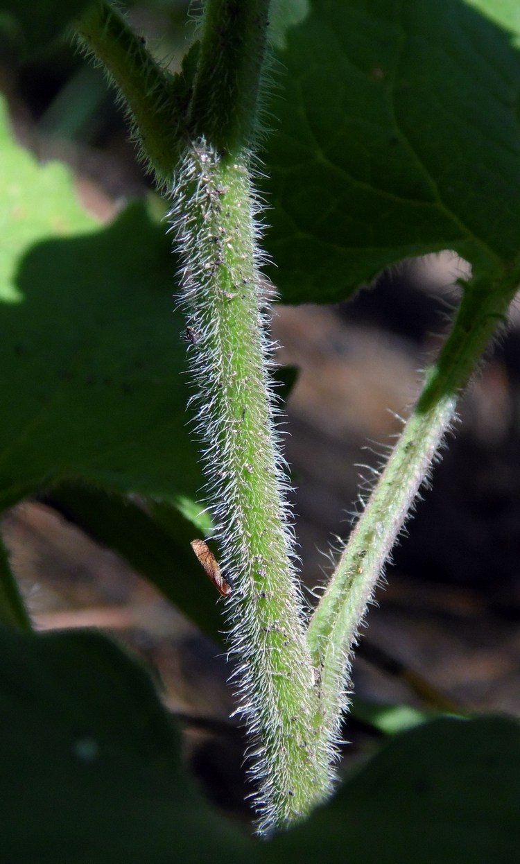
[(7, 22), (2, 20), (7, 13), (10, 23), (15, 22), (18, 41), (22, 42), (26, 53), (34, 53), (43, 50), (49, 41), (60, 36), (67, 24), (87, 5), (87, 0), (38, 0), (37, 3), (2, 0), (0, 29), (7, 26)]

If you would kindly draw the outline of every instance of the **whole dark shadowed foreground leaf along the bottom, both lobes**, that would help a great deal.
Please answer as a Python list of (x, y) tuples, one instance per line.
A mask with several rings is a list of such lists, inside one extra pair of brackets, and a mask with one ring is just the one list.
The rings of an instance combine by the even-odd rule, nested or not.
[(0, 724), (6, 861), (516, 860), (517, 721), (399, 735), (308, 823), (261, 846), (193, 790), (148, 676), (98, 634), (0, 630)]

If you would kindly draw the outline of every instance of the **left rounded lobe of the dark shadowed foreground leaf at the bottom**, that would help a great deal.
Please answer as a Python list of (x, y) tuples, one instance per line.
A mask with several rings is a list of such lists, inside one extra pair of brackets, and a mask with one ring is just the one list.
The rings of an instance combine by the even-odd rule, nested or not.
[(254, 861), (193, 788), (149, 677), (105, 637), (0, 630), (0, 717), (4, 861)]

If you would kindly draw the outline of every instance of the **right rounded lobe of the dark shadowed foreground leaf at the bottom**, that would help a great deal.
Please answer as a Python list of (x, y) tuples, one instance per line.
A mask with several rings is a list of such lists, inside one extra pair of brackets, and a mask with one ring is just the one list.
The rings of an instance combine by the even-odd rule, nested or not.
[(517, 861), (520, 726), (438, 720), (398, 735), (263, 864)]

